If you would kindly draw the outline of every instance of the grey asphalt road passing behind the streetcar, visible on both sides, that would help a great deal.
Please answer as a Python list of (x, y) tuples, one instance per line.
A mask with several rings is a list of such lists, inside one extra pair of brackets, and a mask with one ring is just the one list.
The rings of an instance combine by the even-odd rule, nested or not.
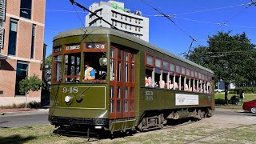
[[(230, 110), (217, 108), (214, 117), (222, 118), (248, 118), (256, 119), (256, 114), (250, 114), (243, 110)], [(36, 110), (23, 114), (0, 115), (0, 129), (21, 126), (46, 125), (48, 122), (48, 110)]]

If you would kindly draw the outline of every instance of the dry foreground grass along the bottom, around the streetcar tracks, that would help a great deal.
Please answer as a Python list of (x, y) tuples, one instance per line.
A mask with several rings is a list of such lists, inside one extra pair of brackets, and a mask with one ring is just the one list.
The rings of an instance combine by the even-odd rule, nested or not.
[[(85, 143), (87, 138), (65, 137), (52, 134), (54, 126), (31, 126), (0, 129), (2, 143)], [(239, 126), (222, 132), (213, 126), (174, 127), (167, 130), (134, 134), (125, 138), (102, 139), (98, 143), (253, 143), (256, 126)], [(209, 140), (210, 139), (210, 140)], [(213, 141), (214, 140), (214, 141)], [(90, 143), (90, 142), (89, 142)]]

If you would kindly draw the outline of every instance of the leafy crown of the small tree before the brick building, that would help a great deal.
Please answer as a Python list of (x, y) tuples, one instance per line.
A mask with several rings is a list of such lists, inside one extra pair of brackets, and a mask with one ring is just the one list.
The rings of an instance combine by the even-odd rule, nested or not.
[(32, 77), (26, 77), (19, 82), (19, 92), (21, 94), (29, 94), (30, 91), (38, 91), (44, 86), (44, 82), (38, 78), (38, 75), (33, 75)]

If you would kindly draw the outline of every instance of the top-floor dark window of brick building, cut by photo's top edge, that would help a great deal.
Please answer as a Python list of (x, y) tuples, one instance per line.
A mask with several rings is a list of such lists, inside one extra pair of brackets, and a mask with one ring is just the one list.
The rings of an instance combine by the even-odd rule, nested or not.
[(32, 0), (21, 0), (20, 16), (31, 19)]

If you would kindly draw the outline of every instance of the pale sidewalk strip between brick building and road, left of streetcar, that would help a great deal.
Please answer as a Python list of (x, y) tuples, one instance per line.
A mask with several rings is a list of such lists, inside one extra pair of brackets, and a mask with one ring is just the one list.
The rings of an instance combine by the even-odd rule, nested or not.
[(36, 112), (39, 110), (48, 110), (46, 109), (30, 109), (30, 108), (21, 108), (21, 109), (0, 109), (0, 115), (6, 115), (6, 114), (23, 114), (23, 113), (30, 113), (30, 112)]

